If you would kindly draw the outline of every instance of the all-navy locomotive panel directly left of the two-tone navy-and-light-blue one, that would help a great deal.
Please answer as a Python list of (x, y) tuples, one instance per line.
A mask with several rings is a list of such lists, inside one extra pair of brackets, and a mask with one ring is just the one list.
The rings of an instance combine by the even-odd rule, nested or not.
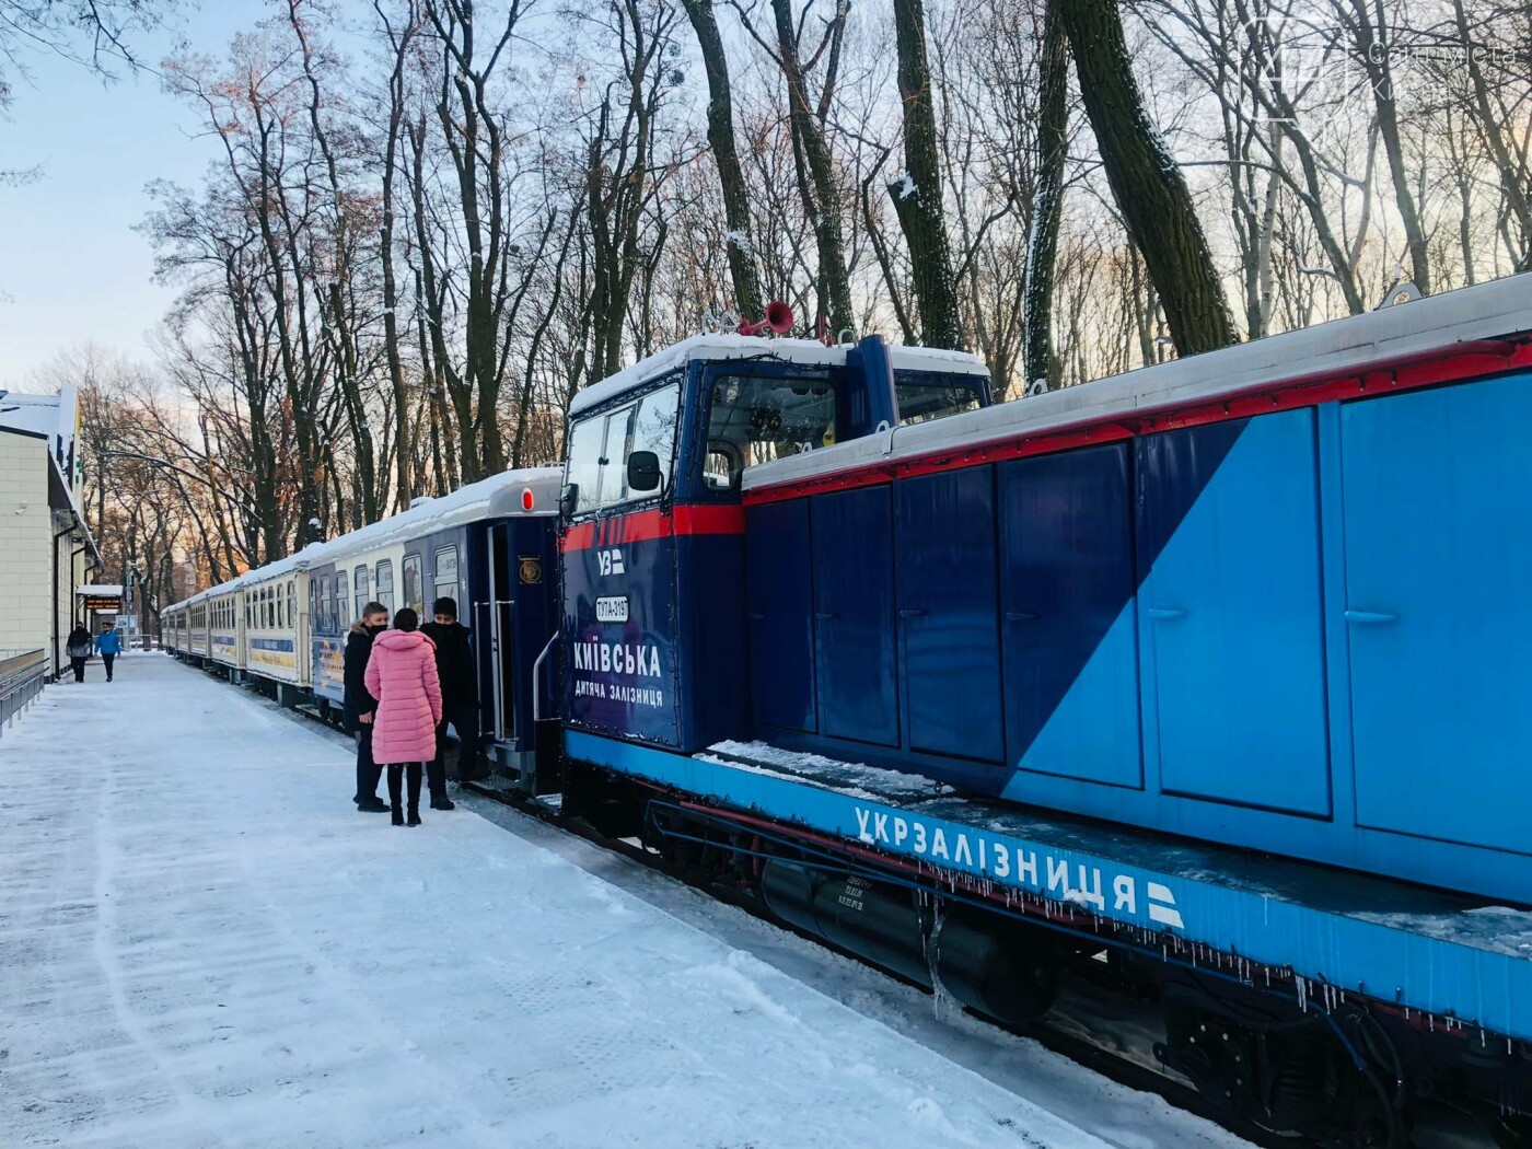
[(910, 746), (999, 763), (994, 469), (904, 480), (895, 501)]

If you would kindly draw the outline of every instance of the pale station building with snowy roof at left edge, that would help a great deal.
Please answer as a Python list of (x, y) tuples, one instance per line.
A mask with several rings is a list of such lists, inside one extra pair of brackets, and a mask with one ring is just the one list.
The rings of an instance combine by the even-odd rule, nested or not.
[(49, 679), (69, 665), (64, 640), (78, 590), (101, 568), (81, 513), (78, 403), (0, 391), (0, 656), (43, 651)]

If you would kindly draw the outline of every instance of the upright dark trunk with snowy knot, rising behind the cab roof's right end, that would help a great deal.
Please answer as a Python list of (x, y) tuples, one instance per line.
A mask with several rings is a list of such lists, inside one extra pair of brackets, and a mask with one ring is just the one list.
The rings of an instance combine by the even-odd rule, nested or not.
[(921, 0), (893, 0), (893, 31), (899, 44), (905, 178), (890, 184), (889, 192), (899, 227), (904, 228), (904, 241), (910, 245), (915, 300), (921, 309), (921, 342), (928, 348), (961, 349), (962, 314), (942, 211), (942, 165)]

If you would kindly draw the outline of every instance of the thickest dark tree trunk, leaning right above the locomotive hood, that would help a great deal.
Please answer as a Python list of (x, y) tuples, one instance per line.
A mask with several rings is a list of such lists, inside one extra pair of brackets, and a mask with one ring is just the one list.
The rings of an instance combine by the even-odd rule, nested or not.
[(1195, 355), (1233, 343), (1233, 320), (1207, 237), (1181, 169), (1149, 123), (1117, 5), (1056, 3), (1112, 196), (1164, 303), (1177, 351)]

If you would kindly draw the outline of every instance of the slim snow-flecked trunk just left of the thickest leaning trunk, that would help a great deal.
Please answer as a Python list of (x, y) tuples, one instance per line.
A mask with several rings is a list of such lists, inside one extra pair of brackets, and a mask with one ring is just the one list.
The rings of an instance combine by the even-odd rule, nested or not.
[(1025, 394), (1057, 385), (1052, 355), (1052, 290), (1063, 218), (1063, 172), (1069, 132), (1069, 40), (1052, 0), (1043, 15), (1037, 61), (1042, 100), (1037, 115), (1037, 188), (1026, 237), (1026, 303), (1022, 309), (1022, 378)]

